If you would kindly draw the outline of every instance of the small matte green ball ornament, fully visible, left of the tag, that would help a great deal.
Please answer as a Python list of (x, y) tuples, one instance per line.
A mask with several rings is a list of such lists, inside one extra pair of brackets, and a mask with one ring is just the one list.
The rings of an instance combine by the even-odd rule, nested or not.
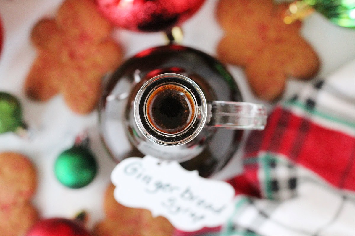
[(82, 188), (92, 182), (97, 173), (97, 162), (89, 149), (87, 133), (79, 135), (74, 146), (58, 156), (54, 172), (59, 182), (69, 188)]

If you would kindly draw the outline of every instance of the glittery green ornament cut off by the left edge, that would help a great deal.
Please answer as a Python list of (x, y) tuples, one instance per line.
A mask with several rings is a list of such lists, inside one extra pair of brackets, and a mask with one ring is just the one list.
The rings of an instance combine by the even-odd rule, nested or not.
[(0, 134), (25, 129), (20, 101), (9, 93), (0, 92)]

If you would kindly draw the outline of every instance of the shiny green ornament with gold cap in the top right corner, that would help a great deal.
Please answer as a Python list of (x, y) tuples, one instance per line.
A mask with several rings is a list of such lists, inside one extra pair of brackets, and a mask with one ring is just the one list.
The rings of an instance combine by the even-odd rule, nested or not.
[(297, 0), (289, 5), (284, 17), (286, 24), (303, 19), (317, 11), (334, 24), (355, 27), (354, 0)]

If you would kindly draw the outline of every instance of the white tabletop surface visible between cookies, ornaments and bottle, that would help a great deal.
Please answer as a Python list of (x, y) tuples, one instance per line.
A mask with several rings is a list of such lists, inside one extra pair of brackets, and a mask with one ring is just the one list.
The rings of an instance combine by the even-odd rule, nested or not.
[[(44, 16), (51, 16), (62, 0), (0, 0), (0, 17), (5, 30), (5, 41), (0, 55), (0, 91), (17, 96), (23, 105), (24, 121), (36, 130), (32, 140), (20, 139), (12, 133), (0, 134), (0, 151), (18, 151), (29, 156), (38, 169), (38, 189), (33, 198), (42, 217), (73, 217), (86, 209), (90, 214), (89, 226), (104, 217), (103, 193), (115, 163), (105, 152), (98, 136), (97, 113), (86, 116), (73, 114), (61, 96), (47, 103), (35, 103), (23, 93), (23, 82), (35, 58), (35, 49), (29, 42), (33, 25)], [(207, 0), (182, 29), (183, 44), (215, 55), (215, 47), (223, 35), (214, 16), (217, 0)], [(329, 23), (320, 14), (308, 17), (302, 35), (311, 43), (321, 58), (318, 77), (326, 77), (354, 58), (354, 30)], [(117, 30), (116, 39), (125, 48), (125, 57), (152, 46), (165, 43), (161, 33), (143, 34)], [(257, 100), (249, 90), (243, 70), (229, 66), (240, 86), (245, 101)], [(289, 80), (284, 99), (297, 92), (302, 84)], [(272, 105), (267, 104), (271, 109)], [(73, 145), (75, 136), (89, 129), (92, 150), (97, 156), (99, 172), (94, 181), (82, 189), (62, 186), (53, 173), (53, 163), (60, 152)], [(229, 177), (241, 171), (240, 153), (215, 178)], [(0, 190), (3, 191), (3, 190)]]

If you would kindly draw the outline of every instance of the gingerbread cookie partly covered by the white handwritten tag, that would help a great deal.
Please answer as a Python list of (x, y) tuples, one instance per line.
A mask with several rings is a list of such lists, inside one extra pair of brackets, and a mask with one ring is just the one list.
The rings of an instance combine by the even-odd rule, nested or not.
[(118, 203), (110, 184), (105, 192), (106, 218), (94, 228), (94, 235), (172, 235), (174, 226), (162, 217), (152, 217), (146, 209), (129, 208)]

